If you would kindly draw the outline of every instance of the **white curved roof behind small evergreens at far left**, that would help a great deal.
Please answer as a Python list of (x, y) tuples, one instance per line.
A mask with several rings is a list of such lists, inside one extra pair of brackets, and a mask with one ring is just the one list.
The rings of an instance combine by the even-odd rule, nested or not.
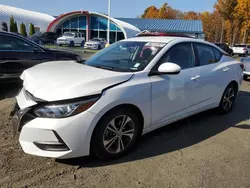
[(21, 23), (25, 24), (27, 33), (29, 32), (30, 23), (34, 24), (36, 31), (46, 31), (49, 23), (55, 19), (48, 14), (0, 5), (0, 24), (5, 22), (8, 28), (10, 28), (11, 16), (13, 16), (17, 22), (18, 30), (20, 29)]

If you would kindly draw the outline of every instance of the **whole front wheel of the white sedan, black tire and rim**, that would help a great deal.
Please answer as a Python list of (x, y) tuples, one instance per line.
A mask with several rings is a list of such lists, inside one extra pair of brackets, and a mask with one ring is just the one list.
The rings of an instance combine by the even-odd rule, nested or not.
[[(127, 119), (125, 119), (126, 123), (124, 129), (122, 129), (122, 134), (122, 132), (119, 132), (121, 131), (119, 128), (121, 128), (120, 123), (124, 121), (124, 117)], [(111, 122), (114, 122), (115, 128), (111, 125)], [(140, 119), (132, 110), (121, 108), (112, 110), (105, 114), (97, 124), (92, 135), (91, 152), (101, 160), (120, 158), (136, 146), (141, 136), (141, 128)], [(117, 133), (115, 133), (115, 129), (118, 130)]]

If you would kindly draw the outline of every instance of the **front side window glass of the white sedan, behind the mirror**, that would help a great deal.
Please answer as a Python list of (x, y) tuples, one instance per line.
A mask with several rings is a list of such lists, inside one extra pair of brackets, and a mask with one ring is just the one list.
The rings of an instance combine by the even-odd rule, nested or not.
[(170, 62), (175, 63), (181, 69), (192, 68), (195, 65), (191, 43), (176, 44), (161, 58), (160, 64)]

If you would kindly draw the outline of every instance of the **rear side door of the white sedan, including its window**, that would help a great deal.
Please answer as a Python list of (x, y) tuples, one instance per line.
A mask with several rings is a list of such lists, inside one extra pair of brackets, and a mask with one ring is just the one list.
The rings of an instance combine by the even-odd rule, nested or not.
[(226, 63), (220, 63), (222, 53), (213, 46), (193, 43), (195, 54), (200, 68), (199, 94), (203, 106), (218, 102), (221, 96), (221, 86), (225, 86), (230, 73)]

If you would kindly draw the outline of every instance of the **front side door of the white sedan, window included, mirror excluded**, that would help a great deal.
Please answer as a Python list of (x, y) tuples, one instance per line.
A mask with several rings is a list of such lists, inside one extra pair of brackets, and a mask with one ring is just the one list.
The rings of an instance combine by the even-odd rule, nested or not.
[(172, 62), (181, 67), (177, 75), (151, 76), (152, 125), (158, 126), (192, 111), (199, 102), (197, 92), (199, 69), (196, 67), (191, 43), (179, 43), (169, 49), (154, 69), (162, 63)]

